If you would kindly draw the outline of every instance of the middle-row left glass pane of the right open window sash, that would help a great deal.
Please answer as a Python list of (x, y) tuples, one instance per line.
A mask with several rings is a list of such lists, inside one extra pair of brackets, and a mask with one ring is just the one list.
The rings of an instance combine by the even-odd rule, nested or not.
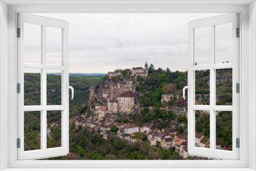
[(197, 105), (210, 104), (210, 70), (195, 71), (196, 101)]

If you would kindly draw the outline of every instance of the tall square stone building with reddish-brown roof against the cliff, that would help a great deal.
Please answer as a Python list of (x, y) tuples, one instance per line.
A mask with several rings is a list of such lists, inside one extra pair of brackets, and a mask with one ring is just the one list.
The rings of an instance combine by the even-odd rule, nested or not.
[(125, 91), (117, 97), (118, 112), (131, 113), (134, 110), (134, 93)]

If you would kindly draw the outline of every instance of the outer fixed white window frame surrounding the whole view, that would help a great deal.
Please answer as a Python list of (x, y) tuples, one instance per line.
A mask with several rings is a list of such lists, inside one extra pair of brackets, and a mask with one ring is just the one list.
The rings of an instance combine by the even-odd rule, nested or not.
[[(151, 1), (151, 2), (127, 2), (127, 1), (104, 1), (102, 2), (81, 2), (81, 1), (62, 1), (63, 3), (71, 5), (49, 5), (59, 4), (59, 1), (2, 1), (0, 2), (0, 22), (1, 22), (1, 93), (5, 93), (8, 86), (8, 108), (3, 108), (6, 103), (6, 97), (1, 95), (1, 169), (8, 168), (8, 170), (22, 170), (22, 168), (31, 168), (39, 170), (74, 170), (84, 168), (83, 170), (90, 170), (90, 168), (98, 168), (104, 170), (122, 170), (131, 168), (131, 170), (255, 170), (256, 169), (256, 155), (255, 155), (255, 125), (256, 125), (256, 70), (255, 70), (255, 55), (256, 55), (256, 6), (254, 1)], [(13, 5), (6, 5), (13, 4)], [(27, 5), (26, 5), (27, 3)], [(28, 5), (34, 3), (33, 5)], [(38, 5), (38, 4), (41, 5)], [(21, 5), (25, 4), (25, 5)], [(98, 4), (98, 5), (95, 5)], [(106, 5), (107, 4), (107, 5)], [(188, 5), (189, 4), (189, 5)], [(7, 11), (8, 9), (8, 11)], [(241, 97), (240, 97), (240, 160), (223, 160), (223, 161), (17, 161), (16, 157), (16, 13), (17, 12), (238, 12), (240, 13), (240, 28), (242, 30), (240, 39), (240, 78), (241, 78)], [(8, 20), (7, 20), (8, 16)], [(8, 24), (8, 28), (7, 28)], [(8, 29), (8, 31), (7, 31)], [(8, 32), (8, 37), (4, 36)], [(3, 35), (3, 36), (2, 36)], [(8, 42), (8, 44), (6, 44)], [(5, 49), (8, 48), (8, 52)], [(8, 60), (7, 60), (8, 55)], [(249, 62), (250, 61), (250, 62)], [(8, 65), (7, 68), (3, 65)], [(250, 77), (250, 79), (249, 79)], [(8, 84), (7, 84), (8, 81)], [(248, 86), (249, 85), (249, 86)], [(250, 89), (250, 93), (249, 92)], [(250, 99), (250, 100), (249, 100)], [(250, 104), (250, 108), (248, 108)], [(8, 116), (6, 113), (8, 112)], [(6, 120), (8, 119), (8, 122)], [(6, 127), (8, 130), (6, 131)], [(248, 131), (250, 129), (250, 136)], [(15, 133), (15, 134), (13, 134)], [(244, 140), (244, 141), (243, 141)], [(250, 142), (250, 143), (249, 143)], [(8, 146), (8, 148), (6, 148)], [(249, 150), (250, 149), (250, 150)], [(6, 157), (8, 156), (8, 157)], [(72, 166), (72, 168), (71, 168)], [(52, 169), (51, 169), (52, 168)], [(62, 168), (62, 169), (61, 169)], [(68, 169), (70, 168), (70, 169)], [(111, 169), (113, 168), (113, 169)], [(137, 168), (137, 169), (136, 169)], [(146, 169), (145, 169), (146, 168)], [(183, 169), (182, 169), (183, 168)], [(115, 169), (117, 170), (117, 169)], [(176, 169), (177, 170), (177, 169)]]

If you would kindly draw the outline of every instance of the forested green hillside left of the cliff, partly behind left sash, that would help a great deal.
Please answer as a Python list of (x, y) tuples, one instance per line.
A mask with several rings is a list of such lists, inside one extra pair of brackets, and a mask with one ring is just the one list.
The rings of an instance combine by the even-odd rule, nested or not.
[[(99, 76), (70, 76), (70, 86), (74, 91), (74, 99), (71, 100), (70, 91), (70, 117), (81, 114), (82, 104), (89, 98), (89, 88), (92, 84), (100, 81)], [(24, 74), (24, 105), (40, 105), (40, 74), (25, 73)], [(61, 76), (47, 75), (47, 104), (61, 104)], [(48, 126), (51, 127), (51, 135), (48, 136), (48, 147), (59, 146), (60, 144), (60, 120), (61, 113), (58, 111), (47, 112)], [(40, 112), (25, 112), (25, 150), (39, 149), (40, 147)], [(52, 138), (52, 140), (50, 140)]]

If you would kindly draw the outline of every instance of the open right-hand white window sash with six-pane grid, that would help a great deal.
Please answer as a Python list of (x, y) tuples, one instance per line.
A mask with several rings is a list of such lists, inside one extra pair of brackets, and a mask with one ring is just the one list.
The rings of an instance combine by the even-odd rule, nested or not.
[[(232, 24), (232, 62), (216, 63), (216, 26)], [(209, 65), (196, 65), (195, 30), (209, 28)], [(202, 18), (188, 23), (188, 153), (193, 156), (202, 156), (217, 159), (239, 159), (239, 148), (236, 147), (236, 138), (239, 138), (239, 95), (236, 93), (236, 83), (239, 83), (239, 38), (236, 29), (239, 28), (239, 14), (230, 13), (214, 17)], [(216, 69), (232, 69), (232, 105), (216, 105)], [(210, 71), (210, 105), (196, 105), (196, 71)], [(195, 111), (210, 112), (210, 148), (195, 146), (196, 120)], [(216, 149), (216, 111), (232, 112), (232, 151)]]

